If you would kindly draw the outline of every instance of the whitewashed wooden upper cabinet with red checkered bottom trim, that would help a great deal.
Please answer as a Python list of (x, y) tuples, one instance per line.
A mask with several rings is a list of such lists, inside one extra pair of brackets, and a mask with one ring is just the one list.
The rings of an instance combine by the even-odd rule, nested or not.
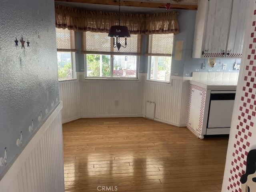
[(193, 58), (240, 58), (248, 0), (199, 0)]

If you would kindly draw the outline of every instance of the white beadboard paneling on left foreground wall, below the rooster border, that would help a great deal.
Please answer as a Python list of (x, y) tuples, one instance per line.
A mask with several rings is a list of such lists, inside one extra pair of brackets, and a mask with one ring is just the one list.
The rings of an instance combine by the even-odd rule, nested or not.
[(60, 102), (0, 180), (1, 192), (64, 192)]

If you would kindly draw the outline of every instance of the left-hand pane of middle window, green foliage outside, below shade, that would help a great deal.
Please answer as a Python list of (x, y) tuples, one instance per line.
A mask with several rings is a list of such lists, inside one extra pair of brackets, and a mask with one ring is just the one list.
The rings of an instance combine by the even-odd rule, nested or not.
[(86, 54), (87, 77), (110, 77), (110, 55)]

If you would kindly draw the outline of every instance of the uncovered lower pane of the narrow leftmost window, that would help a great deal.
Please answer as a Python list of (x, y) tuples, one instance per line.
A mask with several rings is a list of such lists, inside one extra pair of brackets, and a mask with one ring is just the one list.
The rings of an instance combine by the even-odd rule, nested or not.
[(57, 52), (59, 80), (72, 79), (72, 59), (70, 52)]

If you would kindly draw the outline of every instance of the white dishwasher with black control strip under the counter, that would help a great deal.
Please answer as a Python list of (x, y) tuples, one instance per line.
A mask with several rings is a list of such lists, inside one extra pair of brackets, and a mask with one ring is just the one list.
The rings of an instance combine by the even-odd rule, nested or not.
[(206, 135), (229, 134), (236, 91), (211, 91)]

